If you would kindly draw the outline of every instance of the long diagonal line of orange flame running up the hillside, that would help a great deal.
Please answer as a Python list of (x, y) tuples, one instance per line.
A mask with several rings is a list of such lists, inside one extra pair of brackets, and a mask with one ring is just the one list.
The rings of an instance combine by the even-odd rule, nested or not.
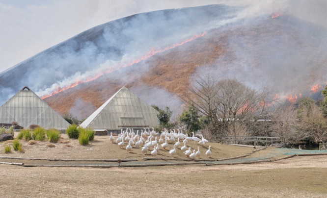
[(174, 48), (176, 48), (176, 47), (178, 47), (178, 46), (182, 46), (182, 45), (184, 45), (184, 44), (186, 44), (186, 43), (189, 43), (189, 42), (191, 42), (191, 41), (193, 41), (193, 40), (195, 40), (195, 39), (197, 39), (197, 38), (200, 38), (200, 37), (206, 35), (207, 33), (208, 33), (208, 32), (205, 31), (205, 32), (203, 32), (202, 34), (194, 35), (193, 37), (191, 37), (191, 38), (189, 38), (189, 39), (186, 39), (186, 40), (182, 41), (181, 43), (177, 43), (177, 44), (174, 44), (174, 45), (172, 45), (172, 46), (167, 46), (167, 47), (164, 48), (164, 49), (159, 49), (159, 50), (156, 50), (156, 49), (150, 49), (150, 51), (148, 51), (145, 55), (143, 55), (142, 57), (140, 57), (140, 58), (138, 58), (138, 59), (132, 61), (131, 63), (129, 63), (129, 64), (127, 64), (127, 65), (121, 65), (121, 66), (119, 66), (119, 67), (116, 68), (116, 69), (110, 68), (109, 70), (103, 71), (103, 72), (101, 72), (100, 74), (97, 74), (97, 75), (95, 75), (95, 76), (93, 76), (93, 77), (87, 77), (85, 80), (77, 80), (77, 81), (74, 82), (73, 84), (71, 84), (71, 85), (69, 85), (69, 86), (67, 86), (67, 87), (64, 87), (64, 88), (57, 87), (56, 90), (55, 90), (54, 92), (52, 92), (52, 93), (49, 94), (49, 95), (45, 95), (45, 96), (43, 96), (42, 99), (46, 99), (46, 98), (51, 97), (51, 96), (53, 96), (53, 95), (55, 95), (55, 94), (58, 94), (58, 93), (60, 93), (60, 92), (63, 92), (63, 91), (65, 91), (65, 90), (67, 90), (67, 89), (70, 89), (70, 88), (76, 87), (76, 86), (79, 85), (79, 84), (82, 84), (82, 83), (85, 83), (85, 82), (93, 81), (93, 80), (99, 78), (100, 76), (102, 76), (102, 75), (104, 75), (104, 74), (109, 74), (109, 73), (111, 73), (111, 72), (113, 72), (113, 71), (115, 71), (115, 70), (119, 70), (119, 69), (124, 68), (124, 67), (130, 67), (130, 66), (132, 66), (132, 65), (134, 65), (134, 64), (136, 64), (136, 63), (141, 62), (142, 60), (146, 60), (146, 59), (150, 58), (151, 56), (153, 56), (153, 55), (155, 55), (155, 54), (157, 54), (157, 53), (161, 53), (161, 52), (164, 52), (164, 51), (166, 51), (166, 50), (174, 49)]

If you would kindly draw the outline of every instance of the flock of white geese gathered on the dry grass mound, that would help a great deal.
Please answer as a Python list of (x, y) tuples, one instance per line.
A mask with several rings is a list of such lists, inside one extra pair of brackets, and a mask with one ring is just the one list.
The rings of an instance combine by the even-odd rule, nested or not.
[[(190, 158), (190, 159), (196, 159), (200, 158), (201, 152), (200, 147), (197, 147), (197, 150), (189, 147), (188, 143), (190, 141), (194, 141), (196, 144), (200, 146), (205, 146), (208, 143), (208, 140), (206, 140), (203, 135), (201, 134), (201, 139), (198, 137), (195, 137), (194, 132), (192, 132), (192, 137), (189, 137), (187, 134), (184, 134), (182, 130), (177, 129), (177, 132), (175, 129), (168, 130), (164, 129), (162, 133), (156, 132), (153, 128), (152, 131), (150, 129), (146, 130), (144, 128), (144, 131), (141, 130), (141, 133), (139, 134), (139, 130), (134, 132), (134, 129), (127, 128), (126, 131), (123, 131), (121, 129), (121, 133), (118, 134), (118, 137), (115, 138), (112, 136), (112, 132), (110, 133), (109, 141), (111, 143), (116, 143), (119, 148), (124, 149), (125, 144), (126, 150), (128, 153), (132, 151), (133, 148), (141, 148), (142, 154), (147, 154), (149, 151), (151, 152), (151, 155), (157, 156), (160, 148), (159, 145), (166, 150), (168, 147), (168, 144), (174, 144), (173, 149), (169, 150), (169, 154), (171, 157), (175, 157), (177, 154), (177, 149), (181, 149), (184, 154)], [(159, 140), (158, 140), (158, 137)], [(184, 146), (180, 147), (182, 144)], [(206, 151), (207, 157), (211, 158), (211, 146), (209, 146), (209, 149)]]

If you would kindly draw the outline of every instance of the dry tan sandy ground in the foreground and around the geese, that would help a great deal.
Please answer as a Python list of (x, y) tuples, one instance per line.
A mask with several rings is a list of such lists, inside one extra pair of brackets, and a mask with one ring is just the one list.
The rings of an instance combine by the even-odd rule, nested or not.
[[(138, 158), (127, 154), (108, 137), (96, 136), (92, 145), (82, 147), (76, 140), (57, 143), (38, 142), (25, 153), (2, 156), (60, 158)], [(63, 140), (67, 140), (63, 138)], [(7, 143), (10, 144), (10, 143)], [(72, 147), (65, 147), (70, 144)], [(4, 144), (0, 146), (3, 147)], [(102, 145), (102, 146), (101, 146)], [(112, 156), (108, 153), (110, 147)], [(195, 146), (193, 146), (195, 147)], [(92, 148), (90, 150), (89, 148)], [(214, 145), (217, 158), (248, 153), (253, 148)], [(235, 150), (223, 152), (224, 149)], [(66, 150), (65, 150), (66, 149)], [(249, 150), (247, 150), (249, 149)], [(1, 148), (2, 152), (3, 149)], [(110, 150), (110, 149), (109, 149)], [(205, 148), (203, 148), (205, 150)], [(95, 152), (96, 151), (96, 152)], [(34, 153), (36, 152), (36, 153)], [(124, 155), (122, 155), (123, 152)], [(166, 156), (167, 151), (163, 151)], [(267, 152), (267, 151), (266, 151)], [(87, 154), (89, 153), (89, 154)], [(96, 155), (96, 153), (99, 153)], [(116, 153), (116, 154), (113, 154)], [(118, 154), (117, 154), (118, 153)], [(130, 156), (132, 155), (132, 156)], [(179, 156), (184, 157), (184, 156)], [(202, 156), (205, 158), (205, 155)], [(285, 160), (246, 165), (186, 165), (138, 168), (49, 168), (0, 165), (1, 197), (326, 197), (327, 156), (301, 156)]]

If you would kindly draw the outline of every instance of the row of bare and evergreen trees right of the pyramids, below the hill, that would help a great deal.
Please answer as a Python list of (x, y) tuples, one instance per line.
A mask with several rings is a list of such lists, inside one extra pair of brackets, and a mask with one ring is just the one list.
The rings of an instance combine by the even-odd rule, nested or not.
[(327, 88), (325, 99), (303, 97), (296, 103), (269, 100), (269, 91), (252, 89), (236, 79), (198, 77), (183, 93), (187, 108), (170, 121), (169, 107), (158, 111), (160, 126), (180, 125), (214, 136), (282, 136), (287, 143), (327, 141)]

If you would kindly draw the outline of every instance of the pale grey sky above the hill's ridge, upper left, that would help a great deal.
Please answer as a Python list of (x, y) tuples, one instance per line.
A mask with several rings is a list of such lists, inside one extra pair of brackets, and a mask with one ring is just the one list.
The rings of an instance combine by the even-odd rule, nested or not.
[(0, 0), (0, 73), (96, 25), (223, 0)]

